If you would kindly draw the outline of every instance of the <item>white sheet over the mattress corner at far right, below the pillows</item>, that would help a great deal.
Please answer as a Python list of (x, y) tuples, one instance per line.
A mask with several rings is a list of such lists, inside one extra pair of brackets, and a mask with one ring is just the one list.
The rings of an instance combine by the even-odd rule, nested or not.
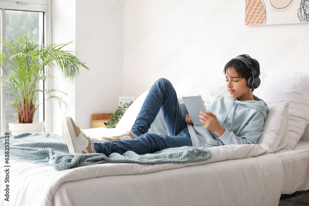
[(298, 141), (294, 149), (274, 152), (282, 161), (283, 187), (281, 194), (309, 190), (309, 141)]

